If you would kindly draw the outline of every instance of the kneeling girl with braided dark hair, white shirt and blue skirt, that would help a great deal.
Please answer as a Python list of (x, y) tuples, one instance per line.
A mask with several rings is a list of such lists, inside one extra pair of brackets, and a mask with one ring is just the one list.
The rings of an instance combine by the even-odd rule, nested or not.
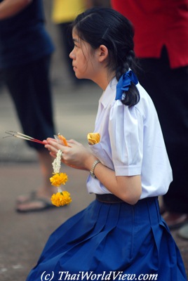
[(157, 197), (168, 191), (172, 172), (156, 110), (132, 72), (133, 27), (110, 8), (92, 8), (76, 18), (72, 37), (76, 77), (103, 90), (95, 121), (100, 142), (88, 150), (48, 138), (46, 148), (53, 157), (61, 150), (68, 166), (90, 171), (87, 188), (96, 200), (51, 235), (27, 281), (43, 274), (49, 280), (185, 281), (159, 213)]

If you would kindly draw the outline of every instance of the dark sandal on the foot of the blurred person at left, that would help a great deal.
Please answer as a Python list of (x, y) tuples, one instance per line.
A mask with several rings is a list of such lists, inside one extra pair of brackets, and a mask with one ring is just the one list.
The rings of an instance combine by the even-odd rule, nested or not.
[(55, 205), (53, 205), (48, 199), (42, 198), (42, 197), (34, 197), (30, 200), (27, 200), (27, 202), (20, 203), (19, 205), (32, 203), (32, 202), (42, 202), (43, 204), (40, 207), (28, 207), (25, 209), (19, 209), (19, 206), (18, 206), (16, 208), (16, 211), (18, 211), (19, 213), (28, 213), (28, 212), (32, 212), (32, 211), (45, 211), (46, 209), (55, 208)]

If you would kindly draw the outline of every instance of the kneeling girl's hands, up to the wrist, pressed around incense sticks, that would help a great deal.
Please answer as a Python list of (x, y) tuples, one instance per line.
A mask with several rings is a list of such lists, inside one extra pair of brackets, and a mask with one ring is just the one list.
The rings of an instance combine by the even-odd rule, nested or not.
[(52, 157), (56, 157), (58, 150), (62, 151), (62, 162), (75, 169), (90, 170), (96, 157), (84, 148), (81, 143), (74, 140), (67, 141), (68, 146), (54, 138), (47, 138), (45, 148), (50, 151)]

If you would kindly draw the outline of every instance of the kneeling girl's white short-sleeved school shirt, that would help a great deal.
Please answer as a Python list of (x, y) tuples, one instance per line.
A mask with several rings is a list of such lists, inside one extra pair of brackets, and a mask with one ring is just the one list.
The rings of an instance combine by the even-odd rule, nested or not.
[[(95, 132), (100, 143), (90, 145), (93, 154), (116, 176), (141, 175), (142, 195), (164, 195), (173, 180), (156, 109), (145, 89), (137, 84), (140, 101), (128, 107), (115, 100), (116, 79), (112, 79), (99, 100)], [(97, 178), (88, 177), (88, 192), (110, 193)]]

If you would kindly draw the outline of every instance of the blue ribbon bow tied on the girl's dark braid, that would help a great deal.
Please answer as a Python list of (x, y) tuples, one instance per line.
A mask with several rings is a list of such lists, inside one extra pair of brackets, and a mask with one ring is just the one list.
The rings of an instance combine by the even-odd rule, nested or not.
[(131, 82), (135, 85), (138, 83), (137, 77), (132, 70), (128, 70), (128, 72), (124, 73), (118, 81), (116, 85), (116, 98), (115, 100), (122, 100), (123, 93), (128, 91)]

